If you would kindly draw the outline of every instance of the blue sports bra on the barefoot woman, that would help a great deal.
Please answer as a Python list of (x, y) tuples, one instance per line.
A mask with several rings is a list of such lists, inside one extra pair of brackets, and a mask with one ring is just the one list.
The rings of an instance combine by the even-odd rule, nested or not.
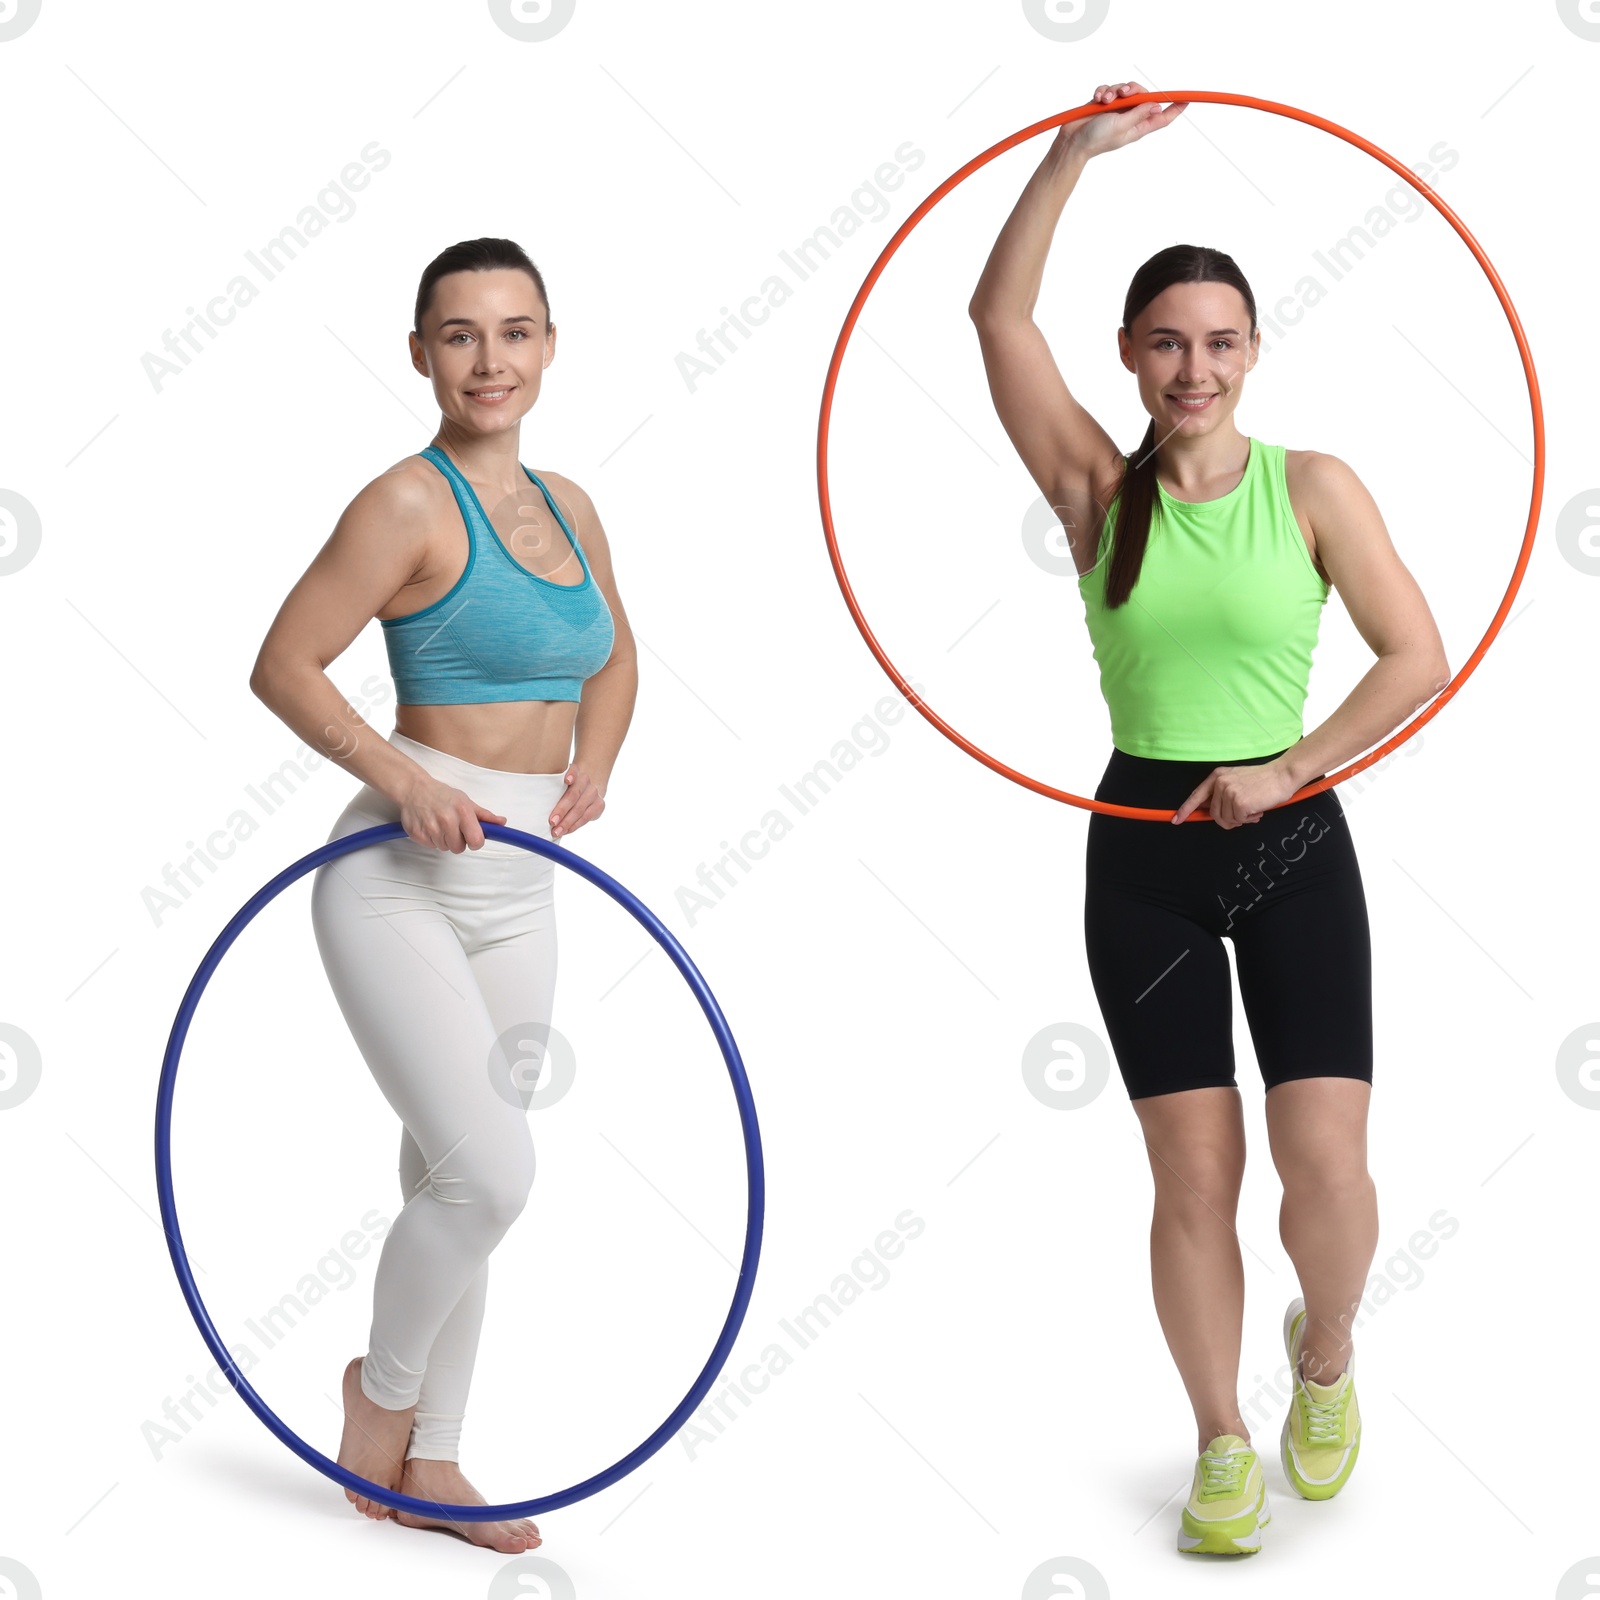
[(611, 659), (616, 626), (582, 546), (544, 483), (539, 493), (584, 570), (581, 584), (530, 573), (501, 542), (472, 485), (429, 445), (419, 451), (450, 480), (467, 525), (467, 565), (450, 594), (421, 611), (382, 619), (395, 701), (402, 706), (485, 706), (494, 701), (576, 701), (584, 678)]

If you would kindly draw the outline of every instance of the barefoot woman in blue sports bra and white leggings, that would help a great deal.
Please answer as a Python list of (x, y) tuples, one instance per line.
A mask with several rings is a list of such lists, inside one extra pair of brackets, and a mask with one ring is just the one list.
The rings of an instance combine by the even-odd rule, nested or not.
[[(250, 680), (362, 781), (330, 838), (406, 832), (328, 862), (312, 891), (328, 979), (403, 1123), (405, 1206), (378, 1262), (370, 1347), (344, 1371), (339, 1464), (443, 1504), (485, 1504), (458, 1464), (461, 1419), (488, 1256), (533, 1182), (512, 1062), (549, 1038), (555, 984), (555, 864), (485, 840), (482, 824), (562, 840), (600, 816), (638, 686), (592, 501), (518, 466), (554, 355), (544, 278), (510, 240), (453, 245), (427, 267), (411, 362), (434, 384), (438, 432), (349, 504)], [(325, 672), (374, 616), (395, 680), (387, 741)], [(346, 1496), (512, 1555), (541, 1542), (526, 1520), (453, 1523)]]

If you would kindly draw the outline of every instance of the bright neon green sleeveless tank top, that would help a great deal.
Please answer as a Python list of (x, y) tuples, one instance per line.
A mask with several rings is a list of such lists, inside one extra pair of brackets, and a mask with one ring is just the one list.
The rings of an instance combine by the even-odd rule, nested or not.
[(1330, 586), (1290, 507), (1283, 446), (1251, 438), (1243, 478), (1214, 501), (1158, 486), (1139, 578), (1109, 611), (1120, 501), (1107, 510), (1099, 558), (1078, 579), (1112, 744), (1222, 763), (1298, 742)]

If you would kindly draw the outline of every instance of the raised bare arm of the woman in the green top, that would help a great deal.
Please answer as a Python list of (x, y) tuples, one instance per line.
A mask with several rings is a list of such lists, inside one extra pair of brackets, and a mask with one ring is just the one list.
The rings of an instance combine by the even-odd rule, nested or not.
[[(1142, 93), (1138, 83), (1102, 83), (1094, 99), (1136, 93)], [(1086, 539), (1078, 531), (1098, 526), (1098, 509), (1122, 477), (1122, 454), (1067, 389), (1034, 322), (1034, 306), (1061, 211), (1090, 157), (1165, 128), (1182, 109), (1181, 102), (1165, 109), (1134, 106), (1059, 128), (1000, 229), (966, 307), (978, 328), (995, 411), (1029, 477), (1061, 517), (1080, 573), (1093, 565), (1094, 550), (1083, 547)]]

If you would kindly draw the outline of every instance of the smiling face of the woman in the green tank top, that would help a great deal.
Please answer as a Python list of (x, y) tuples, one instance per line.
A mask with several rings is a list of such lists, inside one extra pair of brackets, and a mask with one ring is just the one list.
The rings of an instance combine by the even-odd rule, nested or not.
[[(1261, 350), (1250, 336), (1245, 296), (1229, 283), (1173, 283), (1117, 330), (1122, 363), (1139, 379), (1157, 442), (1214, 432), (1238, 405), (1245, 373)], [(1197, 403), (1186, 405), (1190, 398)]]

